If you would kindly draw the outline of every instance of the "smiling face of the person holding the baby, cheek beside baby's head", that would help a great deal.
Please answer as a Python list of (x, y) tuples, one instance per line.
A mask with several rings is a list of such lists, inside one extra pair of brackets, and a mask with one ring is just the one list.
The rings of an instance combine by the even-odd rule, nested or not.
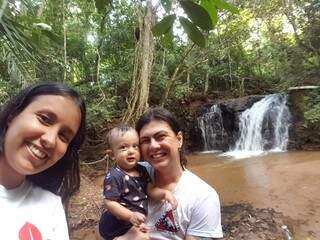
[(182, 133), (176, 134), (167, 122), (152, 120), (142, 127), (139, 138), (142, 157), (155, 169), (180, 166)]

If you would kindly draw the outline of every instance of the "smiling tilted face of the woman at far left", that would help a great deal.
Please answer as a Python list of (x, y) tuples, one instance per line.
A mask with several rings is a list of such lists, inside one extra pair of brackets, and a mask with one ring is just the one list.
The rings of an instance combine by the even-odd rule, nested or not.
[(9, 172), (25, 176), (54, 165), (76, 135), (81, 112), (69, 97), (40, 95), (8, 123), (4, 161)]

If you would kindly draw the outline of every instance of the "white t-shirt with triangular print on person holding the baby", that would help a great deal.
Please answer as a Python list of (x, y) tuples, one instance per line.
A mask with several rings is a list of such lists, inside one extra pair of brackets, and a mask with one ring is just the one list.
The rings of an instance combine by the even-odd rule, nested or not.
[(223, 237), (219, 196), (211, 186), (185, 170), (173, 194), (178, 202), (175, 211), (168, 203), (149, 202), (146, 224), (151, 240)]

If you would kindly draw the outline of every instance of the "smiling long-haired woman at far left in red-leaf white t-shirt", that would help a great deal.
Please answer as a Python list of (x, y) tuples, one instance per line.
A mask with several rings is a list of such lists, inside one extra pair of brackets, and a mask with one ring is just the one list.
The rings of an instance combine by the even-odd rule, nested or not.
[(1, 239), (69, 239), (61, 203), (79, 188), (86, 108), (61, 83), (21, 91), (0, 113)]

